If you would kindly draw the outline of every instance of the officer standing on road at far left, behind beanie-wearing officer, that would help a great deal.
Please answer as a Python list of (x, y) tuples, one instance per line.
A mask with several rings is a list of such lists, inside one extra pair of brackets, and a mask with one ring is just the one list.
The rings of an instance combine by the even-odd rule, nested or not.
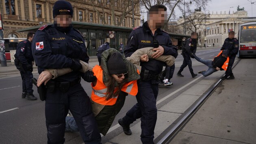
[(37, 97), (33, 95), (32, 89), (34, 58), (31, 51), (31, 42), (34, 34), (35, 32), (28, 32), (27, 39), (18, 44), (14, 55), (14, 64), (22, 77), (22, 98), (26, 97), (28, 100), (37, 100)]

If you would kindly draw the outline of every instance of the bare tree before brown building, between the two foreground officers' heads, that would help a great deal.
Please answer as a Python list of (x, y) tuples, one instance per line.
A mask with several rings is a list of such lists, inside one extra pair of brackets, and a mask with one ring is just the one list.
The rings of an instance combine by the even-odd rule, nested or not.
[[(132, 1), (131, 0), (90, 0), (93, 9), (98, 13), (103, 24), (107, 24), (105, 17), (106, 13), (111, 14), (111, 25), (120, 26), (123, 20), (132, 13)], [(134, 9), (139, 8), (139, 0), (133, 0)], [(139, 13), (134, 13), (139, 14)], [(116, 23), (116, 16), (120, 19)]]

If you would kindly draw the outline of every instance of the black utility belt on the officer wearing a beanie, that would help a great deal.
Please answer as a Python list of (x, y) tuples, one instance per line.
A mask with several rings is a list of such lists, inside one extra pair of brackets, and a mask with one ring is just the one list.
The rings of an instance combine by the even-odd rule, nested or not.
[(69, 82), (69, 81), (59, 82), (59, 81), (50, 80), (46, 84), (46, 86), (47, 86), (47, 89), (50, 92), (54, 92), (55, 89), (59, 88), (60, 91), (65, 93), (65, 92), (67, 92), (69, 87), (73, 87), (74, 85), (80, 83), (80, 81), (81, 81), (81, 77), (80, 76), (76, 80), (73, 80), (71, 82)]

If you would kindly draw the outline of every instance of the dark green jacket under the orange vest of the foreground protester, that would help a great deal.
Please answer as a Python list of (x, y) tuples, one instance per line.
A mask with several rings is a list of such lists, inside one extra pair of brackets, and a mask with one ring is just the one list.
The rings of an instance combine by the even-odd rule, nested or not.
[[(108, 58), (110, 57), (110, 55), (112, 55), (115, 52), (118, 52), (118, 51), (116, 49), (108, 49), (102, 53), (100, 67), (103, 70), (103, 83), (107, 82), (110, 76), (107, 68)], [(122, 55), (122, 57), (128, 70), (128, 75), (127, 75), (128, 82), (132, 80), (140, 79), (140, 76), (137, 73), (136, 66), (133, 65), (130, 61), (128, 61), (124, 57), (124, 55)], [(117, 98), (117, 102), (112, 106), (104, 106), (96, 102), (93, 102), (91, 100), (92, 110), (93, 110), (93, 114), (95, 116), (96, 122), (98, 124), (98, 129), (100, 133), (102, 133), (104, 136), (108, 132), (108, 129), (111, 127), (115, 119), (115, 116), (119, 113), (121, 108), (124, 106), (126, 95), (128, 94), (121, 91)]]

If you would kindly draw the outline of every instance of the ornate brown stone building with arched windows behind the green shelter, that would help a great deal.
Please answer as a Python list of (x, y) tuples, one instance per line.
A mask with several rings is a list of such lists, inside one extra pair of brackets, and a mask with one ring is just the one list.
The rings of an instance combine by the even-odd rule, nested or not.
[[(119, 26), (132, 28), (132, 12), (129, 11), (123, 21), (119, 21), (124, 12), (124, 0), (115, 0), (114, 18), (110, 0), (98, 0), (93, 4), (93, 0), (68, 1), (74, 10), (72, 21), (104, 25), (119, 23)], [(53, 23), (52, 8), (55, 2), (56, 0), (0, 0), (4, 38), (26, 38), (26, 32), (17, 30)], [(101, 6), (99, 2), (106, 5)], [(134, 14), (134, 27), (137, 27), (140, 25), (139, 5), (134, 6)]]

